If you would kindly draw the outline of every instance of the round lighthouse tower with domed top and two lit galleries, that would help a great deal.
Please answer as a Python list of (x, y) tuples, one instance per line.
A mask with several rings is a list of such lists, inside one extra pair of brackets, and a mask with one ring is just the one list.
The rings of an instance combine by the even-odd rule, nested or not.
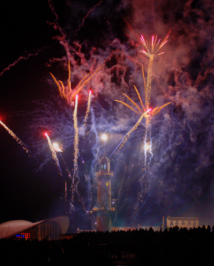
[(96, 172), (97, 178), (97, 207), (96, 227), (99, 231), (111, 232), (111, 213), (114, 207), (111, 207), (111, 178), (113, 172), (110, 171), (110, 161), (104, 154), (99, 160)]

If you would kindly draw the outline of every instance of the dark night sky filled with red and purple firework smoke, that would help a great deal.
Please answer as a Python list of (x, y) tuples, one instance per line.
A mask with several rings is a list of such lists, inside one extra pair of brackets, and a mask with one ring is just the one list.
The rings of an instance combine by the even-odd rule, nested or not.
[[(164, 53), (153, 63), (151, 108), (172, 103), (151, 120), (148, 170), (145, 174), (145, 120), (110, 158), (114, 225), (121, 226), (123, 219), (127, 226), (159, 225), (163, 215), (196, 216), (200, 225), (207, 218), (212, 225), (213, 2), (53, 0), (6, 5), (0, 11), (0, 120), (32, 154), (0, 127), (0, 223), (64, 214), (64, 180), (44, 133), (64, 145), (62, 156), (73, 173), (74, 102), (60, 97), (49, 74), (66, 85), (69, 59), (72, 88), (104, 65), (79, 93), (78, 185), (69, 210), (70, 230), (94, 224), (95, 216), (87, 210), (96, 205), (95, 164), (104, 152), (110, 157), (139, 118), (114, 100), (129, 104), (125, 93), (139, 104), (135, 85), (144, 102), (141, 65), (147, 77), (149, 61), (140, 52), (140, 36), (163, 40), (169, 33)], [(104, 132), (105, 145), (100, 138)], [(60, 157), (59, 163), (67, 180)]]

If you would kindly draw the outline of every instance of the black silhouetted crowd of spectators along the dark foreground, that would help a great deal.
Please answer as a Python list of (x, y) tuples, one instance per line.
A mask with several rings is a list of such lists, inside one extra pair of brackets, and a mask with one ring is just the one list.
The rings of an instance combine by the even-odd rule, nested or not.
[[(213, 265), (214, 226), (82, 232), (56, 241), (0, 239), (1, 265)], [(131, 256), (132, 255), (132, 256)], [(132, 261), (128, 261), (129, 256)]]

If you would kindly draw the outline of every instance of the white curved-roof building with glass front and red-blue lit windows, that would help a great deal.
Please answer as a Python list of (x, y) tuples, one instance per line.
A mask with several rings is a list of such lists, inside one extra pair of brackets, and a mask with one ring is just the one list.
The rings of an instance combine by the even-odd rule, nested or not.
[(67, 232), (69, 223), (67, 216), (58, 216), (36, 223), (24, 220), (9, 221), (0, 224), (0, 238), (57, 240), (60, 239), (60, 234)]

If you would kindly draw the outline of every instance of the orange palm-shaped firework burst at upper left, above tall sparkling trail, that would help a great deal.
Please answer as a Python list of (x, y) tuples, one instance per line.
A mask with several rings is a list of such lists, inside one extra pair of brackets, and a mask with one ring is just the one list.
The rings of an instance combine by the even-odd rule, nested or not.
[[(83, 89), (83, 87), (87, 84), (87, 82), (103, 67), (104, 65), (100, 66), (100, 68), (98, 68), (93, 74), (91, 74), (90, 72), (83, 77), (79, 83), (77, 84), (77, 86), (72, 89), (71, 88), (71, 70), (70, 70), (70, 60), (68, 61), (68, 83), (66, 86), (64, 86), (64, 84), (62, 83), (61, 80), (57, 80), (53, 74), (51, 74), (53, 80), (56, 82), (56, 85), (59, 89), (60, 95), (62, 98), (65, 98), (69, 103), (71, 103), (74, 99), (74, 96), (77, 95), (77, 93), (79, 93), (80, 90)], [(91, 74), (91, 75), (90, 75)]]

